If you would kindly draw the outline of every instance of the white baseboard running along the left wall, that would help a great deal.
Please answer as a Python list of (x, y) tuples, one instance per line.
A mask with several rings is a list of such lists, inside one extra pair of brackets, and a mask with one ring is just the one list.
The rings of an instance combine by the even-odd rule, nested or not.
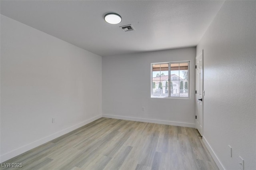
[(93, 117), (91, 119), (88, 119), (86, 121), (83, 121), (81, 123), (73, 125), (71, 127), (68, 127), (66, 129), (60, 130), (59, 132), (56, 132), (54, 134), (51, 134), (49, 136), (46, 136), (44, 138), (41, 138), (39, 140), (36, 140), (36, 141), (31, 142), (29, 144), (26, 144), (26, 145), (24, 145), (24, 146), (22, 146), (20, 148), (17, 148), (15, 150), (12, 150), (12, 151), (10, 151), (10, 152), (8, 152), (6, 154), (3, 154), (3, 155), (0, 156), (0, 162), (4, 162), (4, 161), (9, 160), (9, 159), (11, 159), (11, 158), (13, 158), (15, 156), (18, 156), (19, 154), (22, 154), (22, 153), (24, 153), (24, 152), (26, 152), (26, 151), (28, 151), (30, 149), (33, 149), (33, 148), (35, 148), (37, 146), (40, 146), (41, 144), (49, 142), (50, 140), (58, 138), (59, 136), (62, 136), (63, 134), (66, 134), (68, 132), (71, 132), (72, 130), (80, 128), (80, 127), (82, 127), (82, 126), (84, 126), (84, 125), (86, 125), (88, 123), (91, 123), (92, 121), (95, 121), (95, 120), (97, 120), (97, 119), (99, 119), (101, 117), (102, 117), (102, 115), (98, 115), (96, 117)]

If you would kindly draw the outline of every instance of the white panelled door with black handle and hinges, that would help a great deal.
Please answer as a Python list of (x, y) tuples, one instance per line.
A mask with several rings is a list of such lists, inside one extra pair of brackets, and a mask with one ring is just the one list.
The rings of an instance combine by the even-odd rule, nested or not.
[(196, 128), (203, 136), (203, 51), (196, 56)]

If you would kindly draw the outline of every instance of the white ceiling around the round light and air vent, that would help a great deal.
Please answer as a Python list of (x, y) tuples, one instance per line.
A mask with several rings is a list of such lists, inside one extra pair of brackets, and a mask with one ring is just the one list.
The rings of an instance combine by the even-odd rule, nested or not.
[[(223, 1), (1, 0), (1, 14), (101, 56), (196, 46)], [(120, 24), (104, 15), (115, 12)], [(119, 26), (132, 24), (135, 31)]]

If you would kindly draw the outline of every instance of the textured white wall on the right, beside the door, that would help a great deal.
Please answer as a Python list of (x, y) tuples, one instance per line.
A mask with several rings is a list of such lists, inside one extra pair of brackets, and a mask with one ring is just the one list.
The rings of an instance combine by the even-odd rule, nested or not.
[(240, 170), (241, 156), (244, 170), (255, 170), (256, 1), (225, 1), (197, 53), (202, 49), (204, 141), (221, 169)]

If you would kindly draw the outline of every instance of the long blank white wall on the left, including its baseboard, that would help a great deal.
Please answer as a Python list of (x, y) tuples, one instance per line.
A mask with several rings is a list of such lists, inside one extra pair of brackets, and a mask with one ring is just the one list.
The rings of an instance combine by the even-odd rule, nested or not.
[(101, 56), (1, 15), (0, 162), (101, 114)]

